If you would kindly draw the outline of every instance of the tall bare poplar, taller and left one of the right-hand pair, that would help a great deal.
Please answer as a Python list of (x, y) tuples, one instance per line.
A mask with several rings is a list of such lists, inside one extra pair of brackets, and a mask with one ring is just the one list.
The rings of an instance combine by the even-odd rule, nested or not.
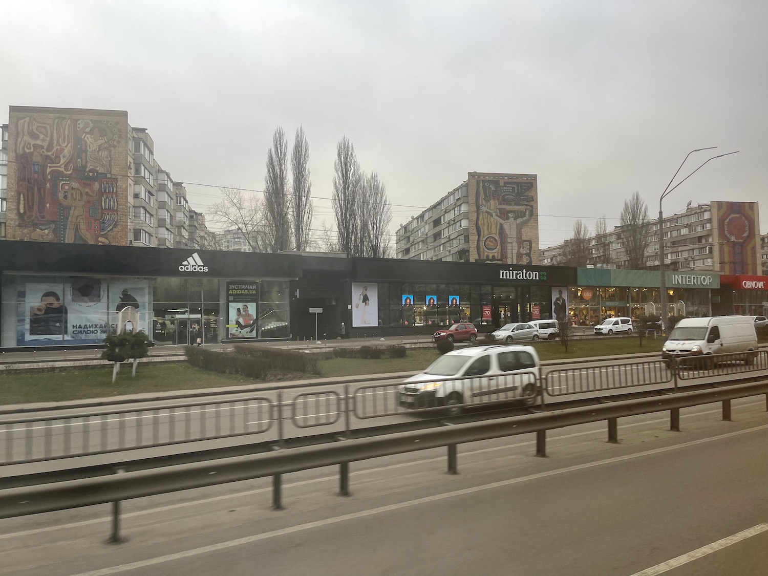
[(339, 234), (339, 251), (349, 256), (359, 256), (362, 249), (360, 222), (360, 164), (355, 147), (344, 136), (336, 145), (336, 161), (333, 163), (333, 214)]

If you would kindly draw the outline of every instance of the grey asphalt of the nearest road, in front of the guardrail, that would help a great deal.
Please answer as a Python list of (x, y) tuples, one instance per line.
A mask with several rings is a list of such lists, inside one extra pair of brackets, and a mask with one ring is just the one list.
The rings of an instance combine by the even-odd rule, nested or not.
[[(768, 414), (761, 397), (459, 447), (459, 475), (429, 450), (333, 469), (124, 502), (127, 541), (106, 545), (108, 507), (0, 521), (0, 574), (487, 574), (765, 576)], [(662, 568), (654, 568), (662, 565)], [(668, 569), (667, 569), (668, 568)]]

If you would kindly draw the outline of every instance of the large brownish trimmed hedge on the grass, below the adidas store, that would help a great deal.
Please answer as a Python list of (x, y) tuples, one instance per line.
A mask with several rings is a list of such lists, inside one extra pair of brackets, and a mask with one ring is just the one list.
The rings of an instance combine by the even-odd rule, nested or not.
[(185, 352), (190, 364), (197, 368), (253, 379), (263, 380), (285, 372), (319, 373), (315, 355), (292, 350), (237, 344), (223, 352), (200, 346), (187, 346)]

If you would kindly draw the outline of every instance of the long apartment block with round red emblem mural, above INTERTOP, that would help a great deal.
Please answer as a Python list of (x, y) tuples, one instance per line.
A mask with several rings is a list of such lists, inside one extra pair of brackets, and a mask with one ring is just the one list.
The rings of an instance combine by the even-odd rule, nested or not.
[[(664, 266), (667, 270), (716, 270), (760, 274), (760, 220), (756, 202), (710, 202), (688, 206), (664, 217)], [(659, 223), (651, 220), (644, 236), (644, 268), (659, 267)], [(539, 250), (549, 266), (629, 268), (631, 240), (623, 227), (589, 237), (585, 253), (570, 240)], [(637, 267), (637, 266), (635, 266)]]

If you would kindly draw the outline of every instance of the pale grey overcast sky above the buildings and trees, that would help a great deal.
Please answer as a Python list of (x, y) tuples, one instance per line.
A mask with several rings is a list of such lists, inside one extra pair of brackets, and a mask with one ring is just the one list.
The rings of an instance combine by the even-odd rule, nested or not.
[[(760, 201), (768, 230), (768, 2), (0, 3), (8, 105), (128, 111), (174, 180), (263, 190), (276, 126), (310, 142), (333, 225), (336, 142), (392, 202), (392, 233), (469, 171), (538, 174), (541, 247), (618, 223), (694, 148), (664, 201)], [(709, 157), (694, 154), (693, 170)], [(685, 168), (684, 168), (685, 170)], [(685, 175), (688, 172), (683, 171)], [(199, 210), (216, 187), (189, 185)]]

